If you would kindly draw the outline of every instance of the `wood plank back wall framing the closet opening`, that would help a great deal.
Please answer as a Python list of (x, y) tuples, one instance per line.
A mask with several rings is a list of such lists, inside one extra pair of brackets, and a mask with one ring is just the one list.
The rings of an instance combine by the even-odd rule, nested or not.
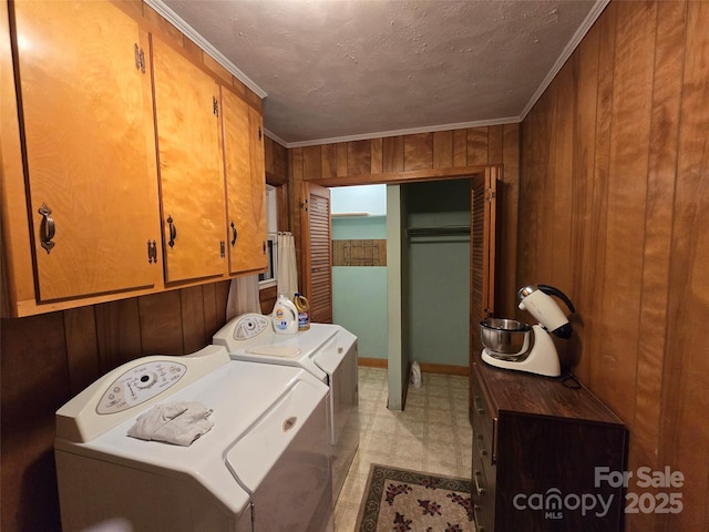
[[(499, 276), (495, 294), (501, 316), (514, 313), (520, 181), (520, 124), (294, 147), (289, 151), (290, 226), (300, 257), (299, 211), (304, 181), (322, 186), (407, 183), (471, 176), (503, 165), (499, 185)], [(300, 263), (299, 263), (300, 264)]]

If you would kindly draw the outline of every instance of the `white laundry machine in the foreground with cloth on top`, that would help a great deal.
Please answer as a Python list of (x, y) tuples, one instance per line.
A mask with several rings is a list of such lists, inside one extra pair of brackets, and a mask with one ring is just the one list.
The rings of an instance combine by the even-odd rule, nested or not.
[[(56, 412), (63, 531), (331, 531), (328, 396), (301, 368), (218, 346), (124, 364)], [(214, 426), (188, 446), (126, 436), (173, 401)]]

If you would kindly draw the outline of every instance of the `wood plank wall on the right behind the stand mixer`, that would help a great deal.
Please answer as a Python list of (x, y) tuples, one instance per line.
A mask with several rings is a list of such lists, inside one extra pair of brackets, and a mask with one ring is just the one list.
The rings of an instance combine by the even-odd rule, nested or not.
[(680, 513), (627, 531), (709, 530), (708, 27), (709, 2), (613, 1), (522, 124), (517, 278), (576, 304), (564, 356), (628, 424), (628, 469), (686, 479), (657, 490)]

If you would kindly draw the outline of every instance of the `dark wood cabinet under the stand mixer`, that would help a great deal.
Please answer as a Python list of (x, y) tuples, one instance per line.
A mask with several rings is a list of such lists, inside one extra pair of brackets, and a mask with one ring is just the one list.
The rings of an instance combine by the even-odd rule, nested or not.
[[(625, 424), (583, 387), (493, 368), (472, 371), (476, 531), (619, 531)], [(576, 385), (575, 381), (571, 381)]]

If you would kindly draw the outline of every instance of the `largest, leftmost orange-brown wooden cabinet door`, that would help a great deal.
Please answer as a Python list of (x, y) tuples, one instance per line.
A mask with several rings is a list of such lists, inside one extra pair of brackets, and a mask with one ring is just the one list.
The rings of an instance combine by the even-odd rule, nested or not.
[(109, 2), (12, 8), (38, 300), (161, 283), (147, 34)]

